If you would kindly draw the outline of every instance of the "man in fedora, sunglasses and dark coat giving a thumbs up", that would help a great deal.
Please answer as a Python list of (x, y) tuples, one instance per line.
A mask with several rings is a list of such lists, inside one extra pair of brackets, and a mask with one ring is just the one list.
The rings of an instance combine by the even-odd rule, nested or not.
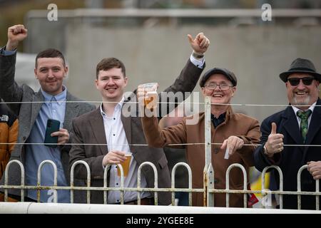
[[(310, 60), (297, 58), (280, 78), (285, 82), (290, 106), (263, 121), (255, 167), (262, 171), (270, 165), (280, 166), (283, 190), (296, 192), (297, 172), (307, 165), (301, 175), (301, 190), (315, 192), (315, 180), (321, 178), (321, 152), (320, 147), (310, 145), (321, 144), (321, 75)], [(280, 180), (276, 170), (272, 176), (277, 189)], [(302, 209), (315, 209), (315, 196), (302, 195), (301, 204)], [(283, 208), (297, 209), (297, 195), (283, 195)]]

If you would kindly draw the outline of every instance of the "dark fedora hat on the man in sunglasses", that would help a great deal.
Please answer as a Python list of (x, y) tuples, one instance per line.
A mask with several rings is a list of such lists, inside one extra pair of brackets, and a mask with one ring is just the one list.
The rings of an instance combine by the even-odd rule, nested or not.
[(291, 63), (289, 71), (280, 73), (281, 80), (287, 82), (287, 77), (292, 73), (308, 73), (311, 76), (314, 76), (317, 81), (321, 82), (321, 74), (317, 73), (315, 65), (305, 58), (295, 59), (295, 61)]

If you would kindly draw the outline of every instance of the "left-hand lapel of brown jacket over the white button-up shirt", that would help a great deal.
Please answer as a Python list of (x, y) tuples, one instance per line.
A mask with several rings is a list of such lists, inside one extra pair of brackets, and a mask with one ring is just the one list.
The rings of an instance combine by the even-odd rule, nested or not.
[(89, 122), (91, 123), (91, 132), (93, 133), (93, 136), (96, 138), (96, 142), (98, 142), (99, 144), (104, 144), (99, 145), (101, 154), (106, 155), (108, 152), (108, 145), (106, 145), (106, 133), (105, 128), (103, 126), (103, 117), (101, 116), (100, 107), (98, 107), (96, 111), (93, 112), (93, 115), (91, 115)]

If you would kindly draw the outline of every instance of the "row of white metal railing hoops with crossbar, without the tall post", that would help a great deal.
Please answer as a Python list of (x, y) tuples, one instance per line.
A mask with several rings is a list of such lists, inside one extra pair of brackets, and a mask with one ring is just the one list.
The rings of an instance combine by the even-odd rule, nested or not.
[[(13, 163), (17, 163), (20, 167), (21, 167), (21, 185), (8, 185), (8, 170), (9, 167), (13, 164)], [(42, 167), (46, 164), (49, 163), (54, 167), (54, 186), (44, 186), (41, 185), (41, 169)], [(171, 176), (172, 176), (172, 183), (171, 183), (171, 187), (170, 188), (158, 188), (158, 178), (157, 178), (157, 170), (155, 165), (153, 165), (153, 163), (151, 162), (143, 162), (139, 167), (138, 167), (138, 186), (135, 187), (123, 187), (123, 182), (121, 182), (121, 187), (107, 187), (106, 183), (107, 183), (107, 175), (104, 175), (104, 185), (103, 187), (91, 187), (90, 183), (91, 183), (91, 176), (87, 175), (87, 187), (82, 187), (82, 186), (74, 186), (73, 185), (73, 172), (74, 172), (74, 167), (76, 165), (85, 165), (86, 169), (88, 171), (88, 173), (90, 173), (90, 168), (88, 166), (88, 164), (86, 162), (83, 161), (79, 161), (79, 162), (75, 162), (73, 164), (73, 166), (71, 167), (71, 186), (70, 187), (66, 187), (66, 186), (57, 186), (57, 169), (56, 169), (56, 164), (50, 160), (44, 160), (43, 162), (41, 162), (41, 165), (39, 165), (39, 169), (38, 169), (38, 174), (37, 174), (37, 186), (27, 186), (24, 185), (24, 166), (21, 164), (21, 162), (19, 160), (11, 160), (8, 165), (6, 166), (6, 170), (5, 170), (5, 180), (4, 180), (4, 185), (0, 185), (0, 189), (4, 189), (4, 199), (5, 201), (8, 200), (8, 190), (9, 189), (21, 189), (21, 196), (23, 196), (21, 198), (21, 201), (24, 201), (24, 190), (37, 190), (38, 194), (37, 194), (37, 199), (38, 202), (40, 202), (40, 191), (41, 190), (54, 190), (54, 192), (56, 192), (57, 190), (70, 190), (71, 191), (71, 204), (73, 204), (73, 191), (74, 190), (86, 190), (87, 191), (87, 204), (90, 204), (90, 191), (91, 190), (101, 190), (104, 192), (107, 192), (108, 190), (116, 190), (116, 191), (121, 191), (123, 194), (123, 191), (136, 191), (136, 192), (143, 192), (143, 191), (150, 191), (150, 192), (154, 192), (154, 199), (155, 199), (155, 205), (158, 204), (158, 192), (172, 192), (172, 205), (174, 205), (175, 199), (173, 197), (173, 192), (189, 192), (189, 205), (191, 206), (191, 199), (192, 199), (192, 192), (203, 192), (205, 193), (204, 195), (214, 195), (215, 193), (226, 193), (226, 207), (229, 207), (229, 197), (230, 194), (244, 194), (244, 207), (247, 207), (247, 194), (248, 193), (258, 193), (258, 194), (262, 194), (262, 195), (266, 195), (266, 190), (264, 189), (265, 186), (265, 172), (266, 170), (270, 169), (270, 168), (275, 168), (277, 169), (277, 171), (279, 172), (280, 175), (280, 190), (277, 191), (269, 191), (270, 194), (279, 194), (280, 195), (280, 209), (282, 209), (282, 195), (297, 195), (297, 206), (298, 209), (301, 209), (301, 195), (315, 195), (315, 200), (316, 200), (316, 210), (320, 211), (320, 204), (319, 204), (319, 199), (320, 199), (320, 195), (321, 192), (319, 191), (319, 180), (316, 180), (316, 191), (315, 192), (302, 192), (301, 191), (301, 172), (302, 170), (307, 168), (307, 165), (302, 165), (302, 167), (300, 168), (300, 170), (297, 172), (297, 191), (296, 192), (290, 192), (290, 191), (283, 191), (283, 177), (282, 177), (282, 170), (280, 170), (280, 167), (277, 167), (275, 165), (269, 166), (269, 167), (265, 167), (265, 169), (263, 170), (262, 174), (261, 174), (261, 178), (262, 178), (262, 190), (247, 190), (247, 184), (248, 184), (248, 180), (247, 180), (247, 175), (246, 175), (246, 171), (245, 168), (243, 167), (243, 165), (240, 165), (238, 163), (232, 164), (228, 167), (228, 170), (226, 171), (226, 187), (225, 190), (222, 189), (215, 189), (214, 185), (209, 185), (210, 187), (208, 188), (208, 190), (206, 191), (206, 189), (193, 189), (192, 185), (191, 185), (191, 180), (192, 180), (192, 171), (190, 169), (190, 166), (184, 162), (180, 162), (178, 164), (175, 165), (175, 167), (172, 170)], [(141, 188), (141, 168), (145, 165), (150, 165), (151, 167), (153, 167), (153, 172), (155, 175), (155, 182), (154, 188)], [(175, 171), (176, 168), (178, 166), (184, 166), (188, 169), (188, 180), (189, 180), (189, 186), (188, 188), (175, 188)], [(119, 165), (119, 167), (121, 167), (121, 165)], [(233, 167), (238, 167), (243, 171), (243, 190), (230, 190), (230, 170)], [(108, 167), (105, 168), (105, 173), (107, 173)], [(209, 169), (210, 172), (208, 172), (208, 176), (210, 177), (210, 180), (214, 180), (214, 172), (212, 171), (212, 165), (210, 164)], [(121, 167), (121, 179), (123, 179), (123, 172), (122, 172), (122, 167)], [(213, 181), (212, 181), (213, 182)], [(57, 196), (57, 192), (54, 193), (54, 202), (57, 202), (58, 196)], [(141, 202), (141, 197), (138, 194), (138, 204), (140, 204)], [(104, 204), (106, 204), (106, 196), (104, 197)], [(121, 197), (121, 204), (123, 204), (123, 197)]]

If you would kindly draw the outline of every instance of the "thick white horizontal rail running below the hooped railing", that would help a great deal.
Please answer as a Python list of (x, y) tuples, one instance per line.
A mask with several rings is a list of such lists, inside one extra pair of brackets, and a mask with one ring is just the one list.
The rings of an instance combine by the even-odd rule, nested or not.
[[(0, 214), (321, 214), (315, 210), (0, 202)], [(131, 215), (132, 216), (132, 215)], [(230, 219), (229, 217), (227, 219)], [(130, 227), (130, 226), (128, 226)], [(133, 226), (135, 227), (135, 226)], [(144, 225), (136, 226), (144, 227)], [(152, 226), (153, 227), (153, 226)], [(166, 227), (166, 226), (163, 226)], [(170, 225), (168, 226), (170, 227)], [(184, 225), (178, 227), (187, 227)], [(193, 227), (193, 224), (189, 227)]]

